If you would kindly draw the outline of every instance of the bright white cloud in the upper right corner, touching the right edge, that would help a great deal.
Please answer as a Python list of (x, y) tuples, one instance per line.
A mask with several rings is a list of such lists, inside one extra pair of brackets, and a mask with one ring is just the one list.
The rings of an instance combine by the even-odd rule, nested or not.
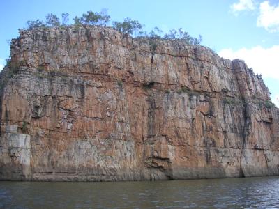
[(259, 5), (257, 26), (271, 33), (279, 31), (279, 5), (276, 7), (269, 5), (269, 1), (262, 2)]

